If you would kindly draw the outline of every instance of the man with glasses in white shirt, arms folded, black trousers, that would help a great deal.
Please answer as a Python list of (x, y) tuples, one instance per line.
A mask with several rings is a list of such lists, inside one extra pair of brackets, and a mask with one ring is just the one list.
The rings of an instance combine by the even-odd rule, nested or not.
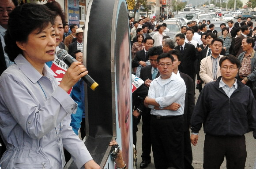
[(151, 108), (151, 144), (156, 169), (184, 169), (184, 80), (173, 73), (174, 58), (160, 54), (160, 76), (152, 80), (144, 104)]

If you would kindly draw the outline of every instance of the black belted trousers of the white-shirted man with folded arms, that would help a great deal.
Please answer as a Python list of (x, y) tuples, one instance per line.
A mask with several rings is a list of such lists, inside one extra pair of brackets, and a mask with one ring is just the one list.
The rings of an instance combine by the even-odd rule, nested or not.
[(156, 169), (184, 169), (184, 117), (156, 119), (151, 116), (151, 144)]

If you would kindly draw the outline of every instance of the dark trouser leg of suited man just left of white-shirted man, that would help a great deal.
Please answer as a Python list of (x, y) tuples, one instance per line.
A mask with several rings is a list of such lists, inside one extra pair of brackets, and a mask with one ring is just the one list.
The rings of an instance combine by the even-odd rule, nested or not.
[(151, 159), (150, 119), (150, 114), (142, 115), (142, 160)]

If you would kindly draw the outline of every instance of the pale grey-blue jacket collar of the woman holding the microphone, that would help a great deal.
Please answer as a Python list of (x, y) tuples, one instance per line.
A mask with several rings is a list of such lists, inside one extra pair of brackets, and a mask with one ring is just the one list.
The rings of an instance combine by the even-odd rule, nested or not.
[[(23, 57), (22, 54), (19, 54), (14, 61), (24, 75), (26, 75), (26, 77), (33, 83), (36, 83), (42, 77), (42, 75), (26, 60), (26, 58)], [(56, 76), (56, 74), (46, 64), (44, 65), (43, 73), (47, 77)]]

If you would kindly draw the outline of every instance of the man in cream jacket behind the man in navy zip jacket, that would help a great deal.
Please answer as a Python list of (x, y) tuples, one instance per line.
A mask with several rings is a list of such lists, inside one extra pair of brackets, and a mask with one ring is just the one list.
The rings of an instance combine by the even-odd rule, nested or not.
[(220, 58), (223, 56), (220, 55), (222, 51), (223, 41), (221, 39), (214, 39), (211, 41), (209, 46), (211, 53), (209, 56), (203, 58), (200, 64), (200, 78), (204, 83), (209, 83), (218, 79), (220, 75), (220, 67), (218, 66)]

